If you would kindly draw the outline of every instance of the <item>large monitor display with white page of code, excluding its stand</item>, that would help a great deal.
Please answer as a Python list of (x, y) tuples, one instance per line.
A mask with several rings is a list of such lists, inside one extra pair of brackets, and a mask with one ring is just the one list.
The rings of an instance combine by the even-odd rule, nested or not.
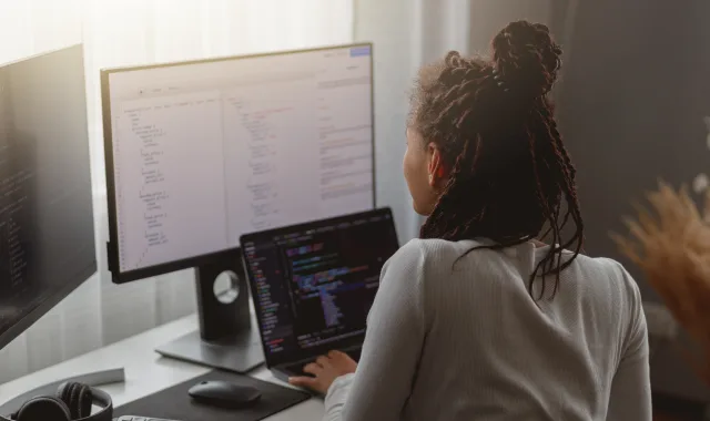
[(105, 70), (102, 92), (115, 281), (374, 208), (368, 44)]

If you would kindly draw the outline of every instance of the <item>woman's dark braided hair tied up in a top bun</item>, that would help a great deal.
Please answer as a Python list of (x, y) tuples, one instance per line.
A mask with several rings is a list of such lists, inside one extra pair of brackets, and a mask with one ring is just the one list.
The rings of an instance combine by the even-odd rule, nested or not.
[[(468, 253), (548, 239), (528, 286), (532, 294), (542, 277), (541, 298), (545, 277), (555, 275), (555, 295), (584, 238), (575, 167), (547, 97), (561, 49), (546, 25), (517, 21), (495, 37), (493, 50), (491, 60), (453, 51), (419, 74), (409, 125), (436, 144), (448, 171), (420, 237), (495, 244)], [(570, 247), (574, 255), (564, 259)]]

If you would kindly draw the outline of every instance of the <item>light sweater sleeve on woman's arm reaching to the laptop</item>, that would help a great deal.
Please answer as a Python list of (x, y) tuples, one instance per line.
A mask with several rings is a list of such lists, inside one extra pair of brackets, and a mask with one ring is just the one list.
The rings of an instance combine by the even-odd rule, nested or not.
[(400, 419), (425, 337), (423, 260), (420, 244), (414, 240), (383, 268), (357, 371), (331, 386), (325, 420)]

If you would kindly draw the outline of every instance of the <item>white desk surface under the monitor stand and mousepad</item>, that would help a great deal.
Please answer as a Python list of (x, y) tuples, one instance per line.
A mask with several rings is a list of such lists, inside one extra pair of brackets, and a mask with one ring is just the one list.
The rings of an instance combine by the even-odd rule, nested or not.
[[(100, 389), (111, 394), (115, 407), (140, 399), (173, 384), (193, 379), (211, 371), (210, 368), (162, 358), (155, 351), (163, 345), (197, 328), (196, 316), (189, 316), (132, 338), (85, 353), (81, 357), (45, 368), (0, 386), (0, 402), (52, 381), (68, 377), (123, 367), (125, 383), (110, 384)], [(0, 362), (1, 363), (1, 362)], [(250, 376), (285, 384), (276, 380), (265, 368), (258, 368)], [(185, 396), (185, 399), (187, 397)], [(267, 420), (316, 421), (323, 418), (323, 401), (312, 398)], [(135, 415), (141, 415), (136, 413)]]

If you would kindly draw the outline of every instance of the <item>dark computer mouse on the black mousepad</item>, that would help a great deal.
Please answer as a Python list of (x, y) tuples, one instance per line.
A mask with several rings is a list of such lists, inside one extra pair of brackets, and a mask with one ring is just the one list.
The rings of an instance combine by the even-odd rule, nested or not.
[(248, 386), (239, 386), (229, 381), (201, 381), (187, 390), (196, 402), (220, 408), (246, 408), (255, 404), (262, 393)]

